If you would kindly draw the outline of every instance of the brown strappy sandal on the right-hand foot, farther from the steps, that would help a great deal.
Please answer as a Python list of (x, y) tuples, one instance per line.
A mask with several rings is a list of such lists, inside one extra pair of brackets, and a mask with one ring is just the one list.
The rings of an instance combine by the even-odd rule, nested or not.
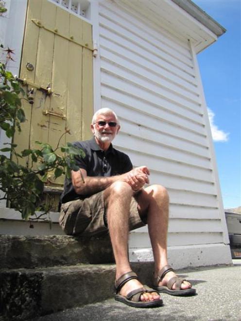
[[(167, 283), (167, 286), (158, 286), (158, 283), (162, 281), (164, 276), (170, 272), (174, 271), (170, 265), (165, 265), (159, 272), (157, 277), (154, 277), (153, 281), (153, 288), (157, 290), (159, 293), (167, 293), (170, 295), (176, 295), (176, 296), (190, 296), (196, 294), (195, 288), (187, 288), (182, 289), (181, 285), (183, 281), (187, 281), (185, 279), (182, 279), (178, 276), (173, 276)], [(189, 282), (189, 281), (188, 281)], [(176, 289), (172, 290), (172, 286), (175, 284)]]

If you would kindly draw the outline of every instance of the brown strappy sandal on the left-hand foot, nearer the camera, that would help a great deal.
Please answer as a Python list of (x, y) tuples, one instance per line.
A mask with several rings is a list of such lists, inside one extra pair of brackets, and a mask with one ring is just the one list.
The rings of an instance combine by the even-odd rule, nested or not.
[(116, 286), (115, 300), (116, 301), (120, 301), (124, 304), (130, 305), (133, 307), (154, 307), (154, 306), (161, 306), (163, 304), (161, 299), (158, 299), (155, 301), (145, 301), (145, 302), (140, 301), (140, 296), (143, 293), (156, 292), (154, 289), (147, 287), (146, 285), (129, 292), (126, 297), (121, 295), (120, 294), (121, 287), (123, 287), (124, 284), (126, 284), (128, 281), (133, 279), (138, 280), (138, 276), (135, 272), (130, 271), (121, 275), (121, 277), (115, 282), (115, 286)]

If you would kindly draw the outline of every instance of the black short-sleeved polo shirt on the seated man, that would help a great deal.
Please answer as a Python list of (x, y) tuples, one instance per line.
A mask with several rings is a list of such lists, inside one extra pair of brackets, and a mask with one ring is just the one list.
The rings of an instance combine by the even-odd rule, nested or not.
[[(86, 156), (76, 156), (76, 165), (81, 169), (85, 169), (87, 176), (114, 176), (124, 174), (130, 171), (133, 166), (128, 155), (116, 150), (112, 144), (107, 151), (103, 151), (96, 143), (93, 137), (90, 140), (77, 141), (74, 146), (83, 149)], [(75, 193), (70, 179), (65, 179), (64, 191), (61, 195), (61, 203), (85, 198)]]

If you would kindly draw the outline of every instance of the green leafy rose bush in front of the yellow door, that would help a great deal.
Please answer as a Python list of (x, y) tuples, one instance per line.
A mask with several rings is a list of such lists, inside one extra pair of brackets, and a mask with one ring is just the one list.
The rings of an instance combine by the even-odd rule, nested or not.
[[(6, 62), (13, 60), (14, 52), (9, 48), (6, 52)], [(14, 136), (16, 130), (21, 131), (21, 123), (25, 121), (23, 99), (26, 99), (25, 92), (20, 83), (6, 70), (6, 63), (0, 63), (0, 128), (9, 138)], [(84, 157), (85, 153), (71, 143), (60, 146), (61, 139), (67, 134), (70, 134), (68, 129), (59, 138), (56, 148), (36, 142), (39, 149), (17, 152), (16, 144), (6, 143), (0, 150), (0, 200), (7, 200), (12, 208), (21, 213), (23, 219), (29, 219), (36, 211), (47, 213), (50, 210), (50, 205), (41, 202), (44, 181), (49, 172), (53, 172), (56, 179), (62, 174), (70, 177), (71, 170), (79, 170), (74, 157)], [(26, 166), (19, 164), (20, 159), (26, 159), (26, 162), (21, 162), (26, 163)]]

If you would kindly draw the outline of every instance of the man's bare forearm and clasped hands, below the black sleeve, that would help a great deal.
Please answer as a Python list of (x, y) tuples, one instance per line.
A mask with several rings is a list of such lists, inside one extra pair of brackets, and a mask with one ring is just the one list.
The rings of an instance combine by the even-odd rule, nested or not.
[(133, 191), (137, 191), (146, 183), (149, 183), (148, 175), (149, 170), (145, 166), (132, 169), (125, 174), (110, 177), (87, 176), (85, 169), (71, 172), (74, 190), (79, 195), (98, 193), (117, 181), (126, 182), (132, 187)]

